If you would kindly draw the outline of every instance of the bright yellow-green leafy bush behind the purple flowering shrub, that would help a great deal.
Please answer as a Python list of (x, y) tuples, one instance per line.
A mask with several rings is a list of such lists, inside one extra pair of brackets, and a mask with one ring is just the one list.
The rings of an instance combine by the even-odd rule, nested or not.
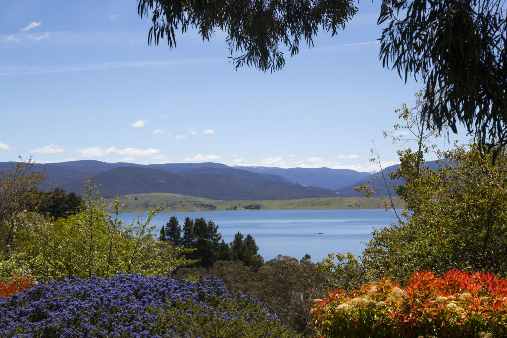
[[(23, 213), (23, 229), (16, 232), (16, 250), (0, 252), (0, 278), (29, 274), (38, 279), (60, 279), (62, 275), (107, 278), (119, 272), (164, 275), (177, 266), (192, 264), (184, 254), (192, 250), (164, 243), (153, 236), (149, 226), (160, 208), (148, 212), (131, 224), (110, 217), (97, 186), (85, 184), (81, 210), (54, 222), (42, 216)], [(26, 216), (25, 214), (28, 214)]]

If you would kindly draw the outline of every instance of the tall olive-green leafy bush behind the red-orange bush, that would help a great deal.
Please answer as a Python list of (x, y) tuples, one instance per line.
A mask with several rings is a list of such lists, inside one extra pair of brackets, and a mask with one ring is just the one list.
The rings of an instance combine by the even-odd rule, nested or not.
[(397, 280), (414, 270), (507, 271), (507, 149), (481, 154), (476, 145), (439, 152), (439, 166), (417, 170), (417, 153), (400, 153), (391, 178), (405, 201), (403, 218), (374, 230), (364, 257), (371, 275)]

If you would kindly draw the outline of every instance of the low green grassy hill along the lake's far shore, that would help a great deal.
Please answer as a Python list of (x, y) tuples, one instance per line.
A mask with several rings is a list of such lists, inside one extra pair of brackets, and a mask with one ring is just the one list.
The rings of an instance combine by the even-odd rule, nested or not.
[[(135, 200), (137, 198), (137, 200)], [(221, 201), (185, 195), (153, 193), (126, 195), (120, 197), (121, 212), (145, 212), (164, 202), (162, 212), (192, 212), (217, 210), (244, 210), (244, 206), (260, 204), (261, 209), (382, 209), (383, 197), (327, 197), (298, 200), (261, 200), (261, 201)], [(108, 208), (112, 208), (114, 199), (106, 199)], [(403, 201), (393, 199), (396, 208), (403, 208)]]

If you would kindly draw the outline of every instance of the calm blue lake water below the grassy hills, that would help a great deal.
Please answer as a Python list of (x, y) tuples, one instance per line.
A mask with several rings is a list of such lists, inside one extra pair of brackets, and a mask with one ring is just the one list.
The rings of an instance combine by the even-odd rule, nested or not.
[[(136, 215), (128, 212), (120, 217), (129, 221)], [(372, 228), (386, 227), (395, 217), (394, 212), (383, 209), (236, 210), (161, 213), (153, 218), (151, 224), (157, 224), (159, 232), (171, 216), (175, 216), (181, 226), (185, 217), (212, 220), (228, 243), (238, 231), (244, 236), (250, 234), (265, 260), (277, 254), (300, 259), (308, 253), (313, 261), (322, 260), (330, 252), (360, 254), (364, 249), (361, 242), (371, 239)]]

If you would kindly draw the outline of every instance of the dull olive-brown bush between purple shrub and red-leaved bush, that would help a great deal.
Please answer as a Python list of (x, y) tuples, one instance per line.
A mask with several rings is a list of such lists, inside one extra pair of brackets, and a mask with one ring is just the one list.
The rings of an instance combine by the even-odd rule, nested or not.
[[(240, 261), (216, 261), (210, 268), (178, 268), (174, 277), (216, 276), (233, 291), (249, 293), (297, 332), (305, 336), (313, 331), (309, 318), (313, 299), (323, 297), (341, 279), (329, 271), (320, 271), (310, 260), (278, 255), (253, 271)], [(340, 284), (341, 285), (341, 284)], [(357, 285), (357, 284), (356, 284)]]

